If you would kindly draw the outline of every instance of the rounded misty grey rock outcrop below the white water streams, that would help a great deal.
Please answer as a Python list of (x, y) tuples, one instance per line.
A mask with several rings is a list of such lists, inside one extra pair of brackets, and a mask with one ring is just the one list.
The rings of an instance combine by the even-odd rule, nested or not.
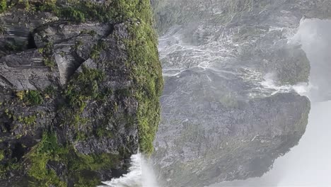
[(163, 186), (262, 176), (306, 130), (308, 98), (294, 93), (238, 98), (226, 88), (244, 85), (214, 73), (187, 70), (165, 81), (153, 154)]

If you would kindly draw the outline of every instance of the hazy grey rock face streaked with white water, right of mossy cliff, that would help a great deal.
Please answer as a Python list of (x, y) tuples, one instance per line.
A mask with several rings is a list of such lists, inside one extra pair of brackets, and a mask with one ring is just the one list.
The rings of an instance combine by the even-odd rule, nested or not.
[(159, 180), (205, 186), (262, 176), (306, 130), (310, 101), (297, 92), (310, 64), (290, 40), (301, 18), (329, 18), (330, 1), (152, 3), (165, 77)]

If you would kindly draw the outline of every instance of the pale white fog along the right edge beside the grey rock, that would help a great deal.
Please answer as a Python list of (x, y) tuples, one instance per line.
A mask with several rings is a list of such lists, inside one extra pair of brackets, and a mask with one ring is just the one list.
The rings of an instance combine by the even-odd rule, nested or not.
[(289, 42), (301, 45), (311, 64), (311, 111), (298, 146), (274, 162), (260, 179), (225, 182), (218, 186), (331, 186), (331, 21), (304, 20)]

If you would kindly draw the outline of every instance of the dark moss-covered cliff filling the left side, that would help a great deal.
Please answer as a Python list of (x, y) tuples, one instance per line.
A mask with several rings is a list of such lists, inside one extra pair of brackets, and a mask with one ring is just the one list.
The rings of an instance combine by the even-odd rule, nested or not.
[(0, 186), (95, 186), (150, 153), (149, 1), (0, 1)]

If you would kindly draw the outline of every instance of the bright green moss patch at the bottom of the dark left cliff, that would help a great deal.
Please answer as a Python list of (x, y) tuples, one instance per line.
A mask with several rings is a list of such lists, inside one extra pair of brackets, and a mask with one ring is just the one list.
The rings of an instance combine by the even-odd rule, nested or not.
[(45, 132), (42, 140), (28, 155), (30, 186), (66, 186), (47, 163), (63, 163), (75, 186), (96, 186), (100, 179), (95, 171), (114, 168), (122, 159), (118, 154), (79, 154), (73, 147), (60, 145), (54, 132)]

